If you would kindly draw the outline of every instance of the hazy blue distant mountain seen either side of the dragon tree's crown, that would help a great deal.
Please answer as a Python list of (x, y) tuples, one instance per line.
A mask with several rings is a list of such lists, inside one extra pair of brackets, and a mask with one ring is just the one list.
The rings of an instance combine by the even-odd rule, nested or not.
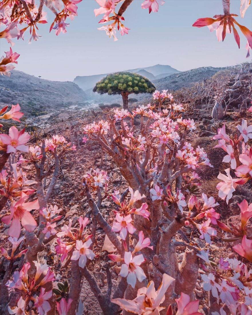
[[(160, 76), (162, 74), (165, 74), (165, 76), (168, 76), (170, 74), (180, 72), (179, 70), (176, 70), (172, 68), (171, 66), (167, 66), (167, 65), (155, 65), (155, 66), (150, 66), (146, 68), (136, 68), (136, 69), (130, 69), (130, 70), (125, 70), (125, 71), (139, 73), (140, 75), (146, 77), (150, 81), (155, 80), (156, 76)], [(78, 84), (78, 86), (81, 89), (83, 89), (83, 91), (86, 91), (88, 89), (93, 88), (96, 82), (106, 77), (107, 74), (108, 73), (96, 74), (93, 76), (77, 76), (73, 80), (73, 82)]]

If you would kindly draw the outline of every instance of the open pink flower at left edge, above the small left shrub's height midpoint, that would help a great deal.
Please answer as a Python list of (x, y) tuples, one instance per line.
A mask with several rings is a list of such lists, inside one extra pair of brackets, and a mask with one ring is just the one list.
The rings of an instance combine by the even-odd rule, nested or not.
[(25, 132), (25, 129), (18, 131), (15, 126), (12, 126), (9, 129), (9, 135), (0, 134), (0, 140), (7, 145), (6, 153), (16, 153), (17, 150), (29, 152), (29, 147), (25, 144), (30, 140), (30, 135)]

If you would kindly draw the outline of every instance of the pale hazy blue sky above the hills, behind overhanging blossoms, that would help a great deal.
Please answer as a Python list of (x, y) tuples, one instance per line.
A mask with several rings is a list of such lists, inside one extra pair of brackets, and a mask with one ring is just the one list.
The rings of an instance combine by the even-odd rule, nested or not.
[[(37, 1), (37, 0), (35, 0)], [(127, 70), (155, 64), (170, 65), (180, 71), (201, 66), (229, 66), (246, 61), (246, 39), (241, 32), (241, 49), (233, 34), (227, 34), (219, 43), (215, 32), (207, 27), (192, 24), (200, 17), (221, 14), (221, 0), (166, 0), (158, 13), (141, 9), (143, 0), (134, 0), (123, 15), (129, 35), (114, 42), (105, 31), (98, 31), (98, 21), (93, 10), (99, 8), (94, 0), (78, 4), (78, 16), (68, 21), (66, 34), (49, 34), (53, 15), (48, 14), (48, 24), (39, 25), (39, 41), (28, 44), (15, 40), (13, 50), (20, 54), (16, 70), (44, 79), (72, 81), (76, 76)], [(231, 0), (231, 13), (239, 14), (239, 0)], [(252, 6), (245, 17), (237, 18), (242, 25), (252, 29)], [(0, 41), (0, 56), (9, 50), (6, 40)]]

